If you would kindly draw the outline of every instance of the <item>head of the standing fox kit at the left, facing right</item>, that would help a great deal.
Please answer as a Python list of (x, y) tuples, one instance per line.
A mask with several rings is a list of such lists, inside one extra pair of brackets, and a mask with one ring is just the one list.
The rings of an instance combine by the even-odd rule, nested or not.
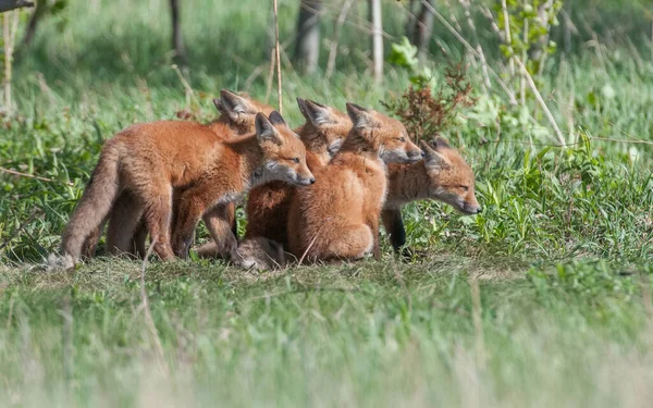
[(270, 119), (262, 113), (256, 115), (256, 137), (263, 152), (264, 180), (301, 186), (316, 182), (306, 165), (306, 147), (279, 112), (272, 111)]

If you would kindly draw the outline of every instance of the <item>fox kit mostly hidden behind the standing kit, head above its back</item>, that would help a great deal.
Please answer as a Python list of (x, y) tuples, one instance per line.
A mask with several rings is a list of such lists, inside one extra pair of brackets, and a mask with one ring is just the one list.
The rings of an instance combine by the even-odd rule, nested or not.
[[(226, 140), (237, 136), (249, 135), (255, 132), (255, 118), (258, 112), (270, 114), (274, 109), (257, 100), (234, 94), (222, 89), (220, 98), (213, 100), (215, 108), (221, 115), (217, 121), (207, 126), (215, 134), (220, 140)], [(186, 137), (186, 135), (182, 135)], [(176, 198), (178, 191), (173, 191)], [(173, 205), (173, 210), (177, 207)], [(174, 211), (173, 211), (174, 212)], [(224, 218), (232, 220), (232, 230), (235, 227), (235, 205), (231, 203), (224, 207)], [(207, 215), (206, 220), (210, 220)], [(218, 230), (220, 225), (215, 225)], [(102, 228), (98, 228), (91, 234), (84, 244), (84, 256), (91, 257), (101, 236)], [(232, 232), (235, 235), (235, 232)], [(224, 234), (222, 234), (224, 235)], [(109, 252), (119, 255), (145, 256), (145, 240), (147, 237), (147, 227), (140, 206), (130, 189), (125, 189), (109, 213), (109, 227), (107, 231), (107, 249)], [(221, 251), (215, 246), (214, 251)]]

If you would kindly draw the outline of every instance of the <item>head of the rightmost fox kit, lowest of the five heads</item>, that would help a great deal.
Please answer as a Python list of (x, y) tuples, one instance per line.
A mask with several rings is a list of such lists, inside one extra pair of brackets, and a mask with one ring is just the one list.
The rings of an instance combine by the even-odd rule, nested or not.
[(441, 137), (435, 138), (431, 146), (421, 141), (429, 175), (429, 198), (444, 201), (464, 214), (481, 212), (481, 206), (475, 196), (475, 177), (469, 164)]

